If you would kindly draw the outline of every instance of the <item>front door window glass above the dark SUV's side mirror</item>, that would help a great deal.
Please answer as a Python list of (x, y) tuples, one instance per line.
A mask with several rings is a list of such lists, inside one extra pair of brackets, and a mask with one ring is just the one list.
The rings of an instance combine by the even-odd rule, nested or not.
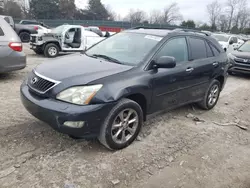
[(170, 39), (167, 44), (157, 54), (157, 57), (172, 56), (176, 62), (188, 61), (188, 49), (185, 38)]

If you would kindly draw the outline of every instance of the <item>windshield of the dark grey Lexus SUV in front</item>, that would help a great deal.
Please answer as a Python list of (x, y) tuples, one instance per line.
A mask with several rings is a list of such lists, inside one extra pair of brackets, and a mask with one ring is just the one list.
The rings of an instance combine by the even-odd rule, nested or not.
[(109, 57), (126, 65), (138, 65), (162, 37), (122, 32), (87, 50), (86, 55)]

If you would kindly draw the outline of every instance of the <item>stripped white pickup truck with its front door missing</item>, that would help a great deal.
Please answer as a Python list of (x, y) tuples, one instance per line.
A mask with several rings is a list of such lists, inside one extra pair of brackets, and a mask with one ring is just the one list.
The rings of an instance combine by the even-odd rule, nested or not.
[(103, 40), (82, 26), (62, 25), (42, 36), (32, 35), (31, 49), (46, 57), (57, 57), (59, 52), (81, 52)]

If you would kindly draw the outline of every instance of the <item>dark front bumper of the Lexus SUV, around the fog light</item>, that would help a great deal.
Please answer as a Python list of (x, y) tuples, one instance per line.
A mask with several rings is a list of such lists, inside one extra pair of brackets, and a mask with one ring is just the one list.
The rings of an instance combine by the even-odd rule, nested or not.
[[(75, 137), (96, 137), (100, 128), (116, 103), (79, 106), (33, 94), (26, 84), (21, 86), (21, 100), (24, 107), (37, 119), (49, 124), (55, 130)], [(84, 121), (82, 128), (64, 125), (66, 121)]]

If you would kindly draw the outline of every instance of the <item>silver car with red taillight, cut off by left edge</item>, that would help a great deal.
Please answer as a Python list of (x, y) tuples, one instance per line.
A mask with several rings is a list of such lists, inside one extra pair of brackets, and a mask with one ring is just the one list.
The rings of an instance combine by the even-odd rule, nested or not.
[(0, 73), (26, 67), (23, 45), (13, 28), (0, 17)]

